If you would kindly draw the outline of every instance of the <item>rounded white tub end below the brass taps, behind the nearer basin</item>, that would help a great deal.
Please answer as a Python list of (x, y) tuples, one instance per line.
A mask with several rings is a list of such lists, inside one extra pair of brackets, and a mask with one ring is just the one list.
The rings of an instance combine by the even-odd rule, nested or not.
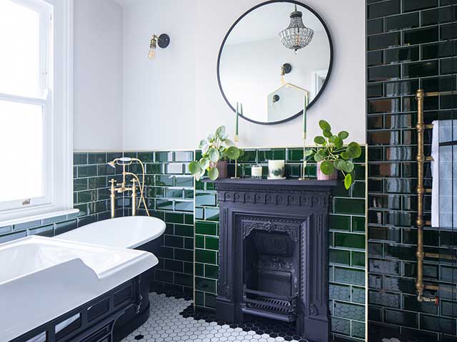
[(165, 227), (165, 222), (156, 217), (117, 217), (86, 224), (57, 235), (56, 239), (134, 249), (160, 237)]

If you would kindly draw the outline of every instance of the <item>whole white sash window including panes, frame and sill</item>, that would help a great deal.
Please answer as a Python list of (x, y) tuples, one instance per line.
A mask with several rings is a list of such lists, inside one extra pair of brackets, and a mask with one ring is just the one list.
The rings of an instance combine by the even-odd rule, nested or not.
[(0, 227), (72, 207), (71, 10), (0, 0)]

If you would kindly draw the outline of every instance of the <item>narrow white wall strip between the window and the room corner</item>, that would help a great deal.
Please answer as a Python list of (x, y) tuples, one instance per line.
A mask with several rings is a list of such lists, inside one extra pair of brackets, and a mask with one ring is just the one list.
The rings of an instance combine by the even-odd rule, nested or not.
[(122, 148), (122, 7), (74, 1), (74, 149)]

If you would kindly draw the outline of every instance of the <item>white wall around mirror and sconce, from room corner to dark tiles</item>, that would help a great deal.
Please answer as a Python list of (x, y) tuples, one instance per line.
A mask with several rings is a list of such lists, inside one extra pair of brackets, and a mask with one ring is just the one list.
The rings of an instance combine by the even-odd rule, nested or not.
[[(262, 0), (131, 0), (124, 7), (124, 149), (194, 148), (218, 125), (234, 131), (235, 115), (219, 92), (216, 60), (233, 22)], [(308, 136), (318, 120), (365, 142), (365, 6), (363, 0), (307, 0), (333, 38), (333, 71), (308, 111)], [(149, 38), (171, 44), (148, 61)], [(240, 145), (301, 145), (301, 118), (281, 125), (240, 121)], [(310, 139), (311, 141), (311, 139)]]

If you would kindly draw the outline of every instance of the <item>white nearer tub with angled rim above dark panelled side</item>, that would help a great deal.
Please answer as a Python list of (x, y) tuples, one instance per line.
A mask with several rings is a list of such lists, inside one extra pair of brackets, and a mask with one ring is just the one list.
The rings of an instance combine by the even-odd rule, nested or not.
[(158, 262), (148, 252), (49, 237), (0, 244), (0, 341), (41, 326)]

